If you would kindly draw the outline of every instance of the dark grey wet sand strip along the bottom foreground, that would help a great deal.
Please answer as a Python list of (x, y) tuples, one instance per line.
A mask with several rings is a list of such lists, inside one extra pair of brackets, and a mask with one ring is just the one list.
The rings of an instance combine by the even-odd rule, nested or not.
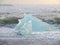
[(1, 39), (0, 45), (60, 45), (60, 39)]

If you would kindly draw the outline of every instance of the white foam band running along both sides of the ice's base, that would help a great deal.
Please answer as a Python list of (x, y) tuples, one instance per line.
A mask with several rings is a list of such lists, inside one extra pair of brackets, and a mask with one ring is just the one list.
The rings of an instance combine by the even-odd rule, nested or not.
[[(1, 27), (0, 28), (0, 36), (21, 36), (15, 33), (14, 29)], [(23, 35), (22, 38), (30, 38), (30, 39), (40, 39), (40, 38), (60, 38), (60, 31), (43, 31), (43, 32), (32, 32), (30, 35)]]

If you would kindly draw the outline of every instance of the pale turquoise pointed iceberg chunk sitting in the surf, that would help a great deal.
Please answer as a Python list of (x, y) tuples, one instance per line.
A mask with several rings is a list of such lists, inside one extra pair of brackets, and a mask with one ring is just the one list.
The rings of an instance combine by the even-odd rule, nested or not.
[(56, 28), (32, 16), (32, 14), (24, 14), (24, 18), (19, 19), (15, 30), (18, 34), (31, 34), (32, 32), (52, 31)]

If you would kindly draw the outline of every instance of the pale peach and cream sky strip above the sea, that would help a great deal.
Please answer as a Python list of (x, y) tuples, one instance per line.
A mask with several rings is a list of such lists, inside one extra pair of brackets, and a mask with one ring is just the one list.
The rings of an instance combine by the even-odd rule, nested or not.
[(60, 0), (0, 0), (1, 4), (60, 4)]

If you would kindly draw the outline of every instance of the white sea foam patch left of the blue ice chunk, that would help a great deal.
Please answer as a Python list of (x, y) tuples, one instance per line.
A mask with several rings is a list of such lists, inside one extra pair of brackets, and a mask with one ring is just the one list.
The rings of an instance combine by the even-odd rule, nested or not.
[(14, 29), (7, 27), (0, 27), (0, 36), (13, 36), (15, 35)]

